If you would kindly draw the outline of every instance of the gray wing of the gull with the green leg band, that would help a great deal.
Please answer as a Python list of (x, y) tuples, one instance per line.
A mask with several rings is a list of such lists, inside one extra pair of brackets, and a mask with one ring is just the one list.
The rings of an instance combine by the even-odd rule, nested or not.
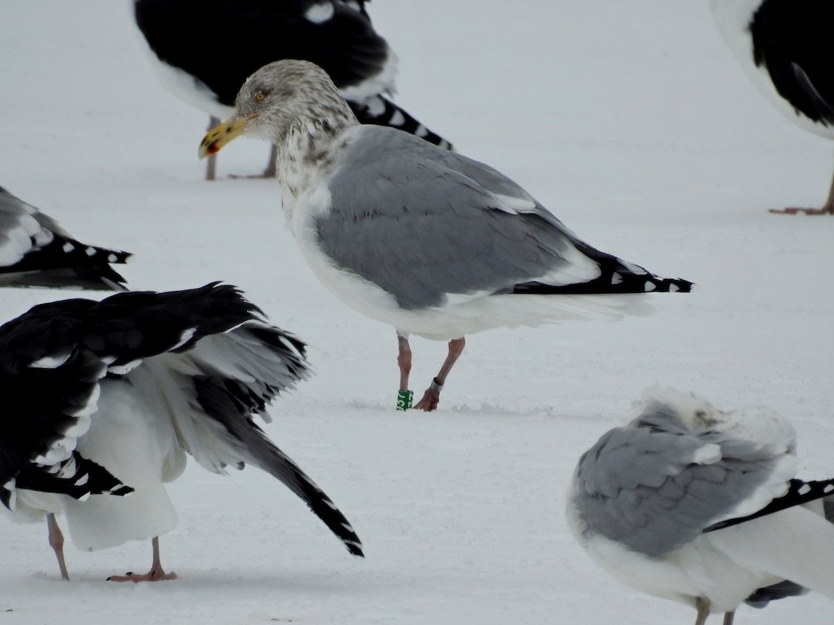
[(610, 285), (615, 268), (646, 275), (581, 243), (495, 169), (404, 133), (361, 127), (334, 171), (319, 245), (402, 308), (525, 283), (588, 283), (603, 273)]

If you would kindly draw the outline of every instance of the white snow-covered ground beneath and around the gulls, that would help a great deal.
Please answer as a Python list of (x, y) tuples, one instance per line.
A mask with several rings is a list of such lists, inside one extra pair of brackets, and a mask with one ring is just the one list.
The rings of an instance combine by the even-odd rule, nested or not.
[[(205, 183), (208, 122), (156, 81), (127, 0), (0, 0), (0, 185), (83, 241), (135, 254), (134, 289), (239, 285), (304, 338), (316, 377), (269, 435), (366, 546), (350, 557), (255, 469), (189, 468), (162, 538), (177, 582), (113, 585), (150, 546), (68, 547), (3, 519), (0, 622), (691, 622), (607, 577), (570, 538), (575, 462), (661, 383), (793, 419), (803, 475), (834, 472), (834, 220), (815, 206), (831, 144), (781, 117), (724, 47), (706, 0), (378, 0), (399, 52), (397, 101), (460, 152), (508, 173), (589, 243), (700, 285), (620, 323), (470, 337), (437, 413), (393, 410), (394, 331), (319, 286), (279, 209), (265, 144), (235, 142)], [(207, 33), (204, 45), (222, 37)], [(76, 293), (4, 289), (0, 317)], [(414, 390), (445, 345), (415, 339)], [(5, 418), (14, 418), (5, 413)], [(716, 617), (713, 617), (717, 620)], [(811, 594), (737, 622), (831, 622)]]

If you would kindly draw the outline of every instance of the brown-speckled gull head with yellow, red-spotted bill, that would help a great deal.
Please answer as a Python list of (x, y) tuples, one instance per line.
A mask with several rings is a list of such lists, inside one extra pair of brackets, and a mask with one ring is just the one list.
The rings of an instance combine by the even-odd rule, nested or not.
[(198, 155), (218, 153), (243, 134), (280, 144), (299, 123), (308, 133), (336, 133), (356, 120), (321, 67), (291, 59), (272, 62), (246, 79), (235, 98), (234, 113), (208, 131)]

